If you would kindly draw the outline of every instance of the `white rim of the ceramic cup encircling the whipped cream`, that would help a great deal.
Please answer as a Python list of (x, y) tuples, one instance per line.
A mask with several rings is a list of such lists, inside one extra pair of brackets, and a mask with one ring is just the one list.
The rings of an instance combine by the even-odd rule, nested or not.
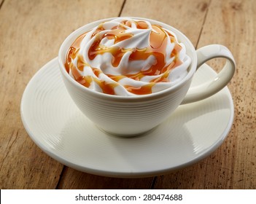
[[(109, 18), (105, 18), (105, 19), (101, 19), (101, 20), (96, 20), (91, 23), (87, 23), (84, 26), (77, 28), (71, 34), (69, 34), (69, 36), (67, 36), (66, 39), (64, 39), (64, 41), (62, 42), (61, 47), (58, 51), (58, 63), (59, 63), (59, 67), (61, 69), (62, 76), (65, 77), (72, 85), (77, 87), (79, 90), (82, 90), (82, 92), (85, 92), (93, 97), (106, 99), (106, 100), (112, 100), (112, 101), (131, 102), (131, 101), (147, 101), (149, 99), (155, 99), (155, 98), (160, 98), (160, 97), (166, 96), (166, 95), (176, 91), (177, 89), (179, 89), (180, 87), (185, 85), (187, 81), (190, 80), (190, 78), (193, 76), (193, 74), (196, 71), (196, 64), (197, 64), (197, 55), (195, 52), (195, 47), (193, 46), (192, 42), (190, 42), (190, 39), (188, 39), (187, 36), (185, 36), (185, 34), (183, 34), (181, 31), (177, 30), (177, 28), (169, 26), (168, 24), (162, 23), (158, 20), (152, 20), (152, 19), (146, 18), (146, 17), (121, 17), (121, 18), (132, 18), (132, 19), (136, 19), (136, 20), (148, 20), (151, 23), (155, 23), (164, 28), (168, 28), (171, 31), (173, 31), (174, 34), (177, 35), (177, 39), (179, 40), (179, 42), (182, 42), (185, 44), (186, 49), (187, 49), (187, 45), (189, 46), (189, 49), (192, 51), (191, 55), (193, 55), (193, 58), (190, 56), (191, 63), (189, 66), (190, 67), (189, 71), (188, 71), (187, 75), (180, 82), (178, 82), (176, 85), (173, 85), (171, 87), (166, 88), (165, 90), (161, 90), (156, 93), (150, 93), (150, 94), (146, 94), (146, 95), (125, 96), (125, 95), (109, 95), (106, 93), (100, 93), (98, 91), (91, 90), (88, 87), (85, 87), (85, 86), (79, 84), (79, 82), (77, 82), (76, 80), (72, 79), (71, 76), (69, 76), (69, 73), (66, 71), (66, 68), (64, 66), (65, 61), (63, 61), (63, 59), (64, 60), (66, 59), (66, 52), (67, 52), (67, 50), (65, 49), (66, 44), (68, 44), (71, 39), (73, 39), (73, 38), (76, 39), (79, 35), (83, 34), (85, 31), (88, 31), (91, 28), (93, 28), (94, 25), (98, 25), (99, 23), (113, 20), (115, 18), (119, 18), (119, 17), (109, 17)], [(71, 43), (73, 43), (73, 42), (71, 42)], [(69, 47), (70, 46), (71, 46), (71, 44), (69, 43)]]

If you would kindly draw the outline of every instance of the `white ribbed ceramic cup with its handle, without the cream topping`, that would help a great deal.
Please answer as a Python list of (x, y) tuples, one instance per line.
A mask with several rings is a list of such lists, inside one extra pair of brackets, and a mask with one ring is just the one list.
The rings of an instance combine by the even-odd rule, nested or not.
[[(180, 104), (200, 101), (222, 90), (230, 82), (236, 69), (236, 63), (230, 50), (220, 44), (211, 44), (195, 50), (190, 40), (177, 29), (156, 20), (141, 17), (131, 18), (147, 20), (152, 24), (167, 28), (177, 35), (179, 42), (185, 44), (187, 55), (190, 56), (192, 61), (187, 76), (177, 85), (149, 95), (120, 96), (90, 90), (69, 76), (64, 63), (66, 52), (74, 40), (79, 35), (98, 26), (98, 24), (113, 18), (98, 20), (78, 28), (64, 40), (58, 53), (61, 75), (74, 103), (101, 130), (117, 136), (137, 136), (152, 130), (152, 128), (163, 122)], [(217, 74), (215, 79), (190, 89), (190, 83), (195, 71), (212, 58), (226, 58), (222, 71)]]

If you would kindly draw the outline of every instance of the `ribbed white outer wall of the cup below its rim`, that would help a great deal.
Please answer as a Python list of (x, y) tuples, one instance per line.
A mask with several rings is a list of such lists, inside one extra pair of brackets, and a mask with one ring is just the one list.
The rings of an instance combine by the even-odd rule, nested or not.
[(136, 136), (163, 122), (182, 102), (191, 81), (158, 98), (122, 101), (101, 97), (104, 94), (93, 95), (91, 91), (88, 94), (86, 87), (77, 87), (66, 76), (63, 79), (71, 98), (91, 121), (106, 132), (121, 136)]

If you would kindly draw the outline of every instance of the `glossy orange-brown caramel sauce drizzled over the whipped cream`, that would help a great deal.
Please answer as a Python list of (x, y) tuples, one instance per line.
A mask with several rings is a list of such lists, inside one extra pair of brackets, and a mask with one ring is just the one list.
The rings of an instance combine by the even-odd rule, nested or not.
[[(120, 79), (123, 79), (125, 77), (134, 79), (134, 80), (140, 80), (144, 76), (152, 76), (152, 75), (158, 75), (163, 74), (162, 76), (158, 77), (157, 79), (153, 79), (151, 82), (149, 82), (147, 85), (141, 86), (141, 87), (133, 87), (129, 85), (125, 85), (125, 89), (128, 90), (130, 93), (134, 93), (137, 95), (143, 95), (143, 94), (150, 94), (152, 93), (152, 86), (155, 85), (155, 83), (158, 82), (169, 82), (168, 81), (168, 74), (170, 73), (171, 69), (179, 66), (182, 61), (179, 60), (179, 52), (182, 49), (182, 47), (179, 44), (175, 44), (174, 50), (171, 52), (171, 58), (174, 57), (174, 61), (166, 65), (166, 46), (168, 38), (171, 39), (171, 42), (176, 42), (174, 36), (172, 36), (168, 31), (164, 31), (163, 28), (161, 28), (158, 25), (152, 25), (152, 31), (150, 33), (150, 46), (146, 47), (144, 49), (124, 49), (122, 47), (105, 47), (104, 45), (100, 44), (101, 39), (107, 38), (107, 39), (114, 39), (114, 44), (117, 42), (122, 42), (125, 39), (129, 39), (133, 36), (131, 33), (125, 33), (125, 26), (131, 27), (132, 23), (136, 23), (136, 28), (139, 29), (147, 29), (148, 25), (144, 21), (130, 21), (130, 20), (124, 20), (122, 23), (120, 23), (119, 26), (115, 26), (112, 28), (111, 31), (106, 32), (105, 34), (101, 35), (98, 34), (101, 31), (104, 31), (103, 24), (99, 25), (96, 31), (94, 31), (93, 36), (95, 36), (95, 40), (93, 44), (89, 48), (88, 52), (88, 58), (90, 60), (93, 60), (96, 58), (97, 55), (103, 55), (106, 52), (109, 52), (112, 54), (112, 66), (117, 67), (120, 64), (120, 60), (122, 60), (123, 55), (125, 55), (126, 52), (131, 52), (129, 60), (146, 60), (150, 57), (150, 55), (154, 55), (155, 59), (157, 60), (157, 63), (155, 65), (152, 65), (149, 69), (146, 71), (139, 71), (136, 74), (127, 74), (125, 76), (113, 76), (110, 74), (107, 74), (110, 79), (114, 80), (113, 83), (107, 83), (103, 80), (99, 80), (96, 77), (93, 76), (82, 76), (79, 74), (79, 71), (82, 71), (88, 63), (85, 62), (82, 55), (78, 55), (80, 44), (82, 42), (82, 39), (86, 36), (87, 33), (82, 34), (79, 36), (73, 44), (71, 44), (71, 47), (69, 48), (67, 55), (66, 55), (66, 63), (65, 68), (66, 71), (71, 69), (71, 73), (74, 76), (74, 79), (79, 82), (81, 85), (84, 85), (85, 87), (90, 87), (91, 82), (96, 82), (99, 87), (101, 87), (101, 90), (103, 93), (112, 94), (115, 95), (115, 87), (117, 87), (118, 81)], [(167, 33), (167, 34), (166, 34)], [(74, 64), (71, 63), (71, 59), (77, 58), (77, 69), (75, 68)], [(93, 73), (96, 76), (99, 76), (99, 74), (102, 73), (101, 70), (98, 68), (92, 68)]]

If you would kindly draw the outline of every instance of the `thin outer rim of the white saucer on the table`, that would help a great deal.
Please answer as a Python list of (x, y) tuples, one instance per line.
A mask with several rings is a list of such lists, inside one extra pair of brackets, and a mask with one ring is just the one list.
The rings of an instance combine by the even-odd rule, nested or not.
[[(45, 152), (48, 156), (52, 157), (54, 160), (57, 160), (58, 162), (61, 162), (61, 164), (66, 165), (70, 168), (74, 168), (76, 170), (80, 170), (85, 173), (91, 173), (93, 175), (107, 176), (107, 177), (113, 177), (113, 178), (144, 178), (144, 177), (151, 177), (151, 176), (160, 176), (160, 175), (164, 175), (167, 173), (171, 173), (175, 170), (186, 168), (187, 166), (193, 165), (196, 162), (199, 162), (200, 160), (203, 160), (204, 158), (208, 157), (210, 154), (212, 154), (212, 152), (214, 152), (216, 149), (218, 149), (218, 147), (220, 147), (220, 145), (225, 141), (225, 138), (227, 138), (228, 133), (230, 132), (230, 130), (232, 128), (233, 119), (234, 119), (234, 104), (233, 104), (233, 98), (230, 93), (230, 90), (226, 86), (224, 88), (225, 95), (228, 96), (228, 102), (229, 102), (228, 105), (229, 105), (229, 109), (230, 109), (230, 117), (228, 120), (228, 124), (226, 125), (225, 130), (222, 131), (222, 133), (220, 134), (218, 139), (216, 141), (214, 141), (214, 143), (212, 143), (211, 146), (204, 149), (200, 154), (196, 155), (196, 157), (194, 157), (193, 160), (189, 160), (189, 161), (184, 162), (181, 165), (177, 165), (175, 167), (158, 169), (158, 170), (149, 170), (149, 171), (143, 171), (143, 172), (135, 172), (135, 173), (128, 172), (128, 171), (119, 172), (119, 171), (115, 171), (115, 170), (111, 170), (111, 171), (99, 170), (99, 169), (95, 169), (95, 168), (88, 168), (84, 165), (76, 164), (75, 162), (70, 162), (69, 160), (66, 160), (66, 158), (61, 157), (61, 155), (59, 155), (58, 152), (55, 152), (55, 153), (51, 152), (49, 146), (48, 147), (45, 146), (44, 144), (42, 144), (42, 142), (40, 142), (38, 137), (34, 136), (34, 133), (31, 131), (31, 128), (29, 127), (29, 124), (26, 122), (26, 119), (24, 118), (24, 114), (23, 114), (23, 112), (25, 111), (24, 110), (25, 97), (26, 97), (26, 94), (28, 94), (27, 93), (28, 89), (29, 89), (31, 83), (34, 81), (36, 75), (41, 74), (47, 68), (47, 66), (50, 66), (50, 64), (56, 63), (56, 62), (58, 64), (58, 58), (53, 58), (52, 60), (50, 60), (49, 62), (44, 64), (44, 66), (42, 66), (39, 69), (39, 71), (37, 71), (36, 74), (34, 74), (34, 76), (32, 76), (32, 78), (26, 85), (26, 88), (25, 88), (22, 98), (21, 98), (20, 116), (21, 116), (21, 120), (23, 122), (23, 126), (25, 127), (26, 132), (28, 133), (28, 136), (32, 139), (32, 141), (34, 141), (36, 146), (38, 146), (40, 149), (42, 149), (43, 152)], [(209, 68), (211, 71), (214, 72), (214, 74), (216, 74), (216, 72), (211, 67), (209, 67)], [(182, 105), (182, 106), (190, 106), (190, 103)]]

